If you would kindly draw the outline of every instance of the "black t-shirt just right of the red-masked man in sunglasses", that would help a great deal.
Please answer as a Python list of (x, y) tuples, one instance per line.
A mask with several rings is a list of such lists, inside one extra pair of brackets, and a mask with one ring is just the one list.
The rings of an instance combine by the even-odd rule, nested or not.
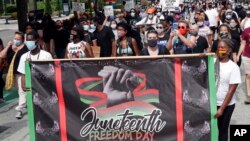
[(193, 53), (204, 53), (204, 50), (208, 48), (207, 39), (203, 36), (199, 36), (196, 41), (196, 46), (193, 48)]

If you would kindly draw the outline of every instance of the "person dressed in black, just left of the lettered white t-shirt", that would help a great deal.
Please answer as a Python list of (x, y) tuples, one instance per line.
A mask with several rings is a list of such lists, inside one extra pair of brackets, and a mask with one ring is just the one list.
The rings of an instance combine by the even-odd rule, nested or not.
[(66, 47), (69, 43), (69, 32), (63, 27), (63, 23), (61, 20), (56, 21), (56, 32), (54, 36), (55, 43), (55, 54), (54, 57), (58, 59), (63, 59), (65, 55)]

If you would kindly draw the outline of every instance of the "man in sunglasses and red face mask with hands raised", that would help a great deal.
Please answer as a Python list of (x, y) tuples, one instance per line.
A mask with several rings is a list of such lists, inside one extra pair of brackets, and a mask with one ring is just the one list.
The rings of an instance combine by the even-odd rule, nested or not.
[(190, 53), (189, 49), (195, 47), (196, 38), (195, 36), (190, 36), (189, 23), (185, 20), (180, 20), (178, 22), (178, 30), (172, 31), (170, 38), (167, 43), (169, 50), (173, 49), (174, 54), (186, 54)]

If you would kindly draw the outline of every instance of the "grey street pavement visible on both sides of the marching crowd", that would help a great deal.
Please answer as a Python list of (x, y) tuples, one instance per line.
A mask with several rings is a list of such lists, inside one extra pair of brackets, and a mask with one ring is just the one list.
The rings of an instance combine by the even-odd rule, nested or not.
[[(54, 17), (54, 19), (64, 18), (68, 17)], [(2, 38), (5, 45), (12, 39), (14, 31), (17, 30), (17, 21), (9, 22), (10, 24), (5, 25), (5, 20), (0, 19), (0, 38)], [(236, 91), (237, 103), (231, 119), (231, 124), (234, 125), (250, 125), (250, 105), (244, 104), (246, 93), (244, 76), (242, 76), (242, 80), (242, 84), (239, 85)], [(0, 141), (28, 141), (29, 129), (27, 115), (21, 120), (15, 118), (15, 106), (17, 105), (18, 100), (17, 93), (14, 90), (11, 92), (5, 92), (4, 97), (6, 103), (0, 104)]]

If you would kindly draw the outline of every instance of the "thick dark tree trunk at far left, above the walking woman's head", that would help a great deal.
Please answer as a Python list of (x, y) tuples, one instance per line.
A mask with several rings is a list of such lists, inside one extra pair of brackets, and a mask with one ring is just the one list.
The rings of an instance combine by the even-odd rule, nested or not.
[(25, 24), (27, 22), (27, 0), (17, 0), (17, 20), (19, 31), (25, 31)]

